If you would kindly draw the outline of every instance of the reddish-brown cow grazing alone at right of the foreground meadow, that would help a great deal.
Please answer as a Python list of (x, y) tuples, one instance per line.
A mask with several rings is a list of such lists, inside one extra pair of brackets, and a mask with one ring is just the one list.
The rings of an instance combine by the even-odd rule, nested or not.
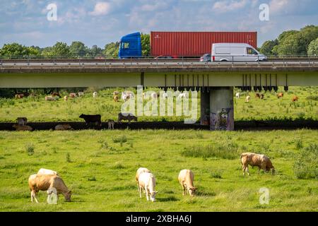
[(241, 163), (243, 175), (245, 175), (246, 170), (247, 174), (249, 175), (249, 165), (251, 165), (252, 167), (259, 167), (259, 171), (263, 169), (264, 172), (269, 172), (270, 170), (272, 174), (274, 174), (275, 172), (275, 168), (271, 164), (271, 160), (269, 160), (269, 157), (267, 157), (266, 155), (259, 155), (255, 153), (242, 153)]

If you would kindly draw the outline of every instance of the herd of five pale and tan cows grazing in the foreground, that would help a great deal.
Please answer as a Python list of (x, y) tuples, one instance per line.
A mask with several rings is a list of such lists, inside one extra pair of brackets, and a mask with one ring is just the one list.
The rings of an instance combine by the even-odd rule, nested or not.
[[(256, 153), (242, 153), (241, 164), (243, 175), (245, 172), (249, 175), (248, 166), (259, 167), (260, 170), (264, 172), (275, 173), (275, 168), (273, 167), (271, 160), (266, 155), (260, 155)], [(195, 196), (196, 187), (194, 186), (194, 173), (191, 169), (182, 169), (178, 176), (179, 184), (182, 186), (183, 196), (189, 194), (190, 196)], [(155, 175), (145, 167), (140, 167), (136, 172), (136, 182), (137, 189), (139, 191), (139, 196), (141, 198), (142, 191), (146, 193), (147, 201), (155, 201), (155, 195), (158, 191), (155, 191)], [(47, 194), (52, 193), (54, 188), (57, 195), (63, 194), (66, 201), (71, 201), (71, 191), (67, 188), (63, 179), (59, 176), (56, 171), (51, 169), (40, 169), (37, 174), (30, 175), (28, 179), (29, 188), (31, 191), (31, 201), (35, 200), (37, 203), (37, 192), (47, 191)]]

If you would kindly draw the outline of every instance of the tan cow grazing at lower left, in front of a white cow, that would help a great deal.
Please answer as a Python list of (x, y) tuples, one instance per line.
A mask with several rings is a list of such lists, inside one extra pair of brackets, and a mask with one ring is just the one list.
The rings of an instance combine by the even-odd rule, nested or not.
[(37, 203), (39, 202), (37, 201), (38, 191), (47, 191), (51, 188), (57, 190), (57, 195), (63, 194), (66, 201), (71, 201), (71, 191), (69, 191), (63, 179), (57, 175), (33, 174), (29, 177), (28, 183), (32, 202), (33, 199), (35, 199)]

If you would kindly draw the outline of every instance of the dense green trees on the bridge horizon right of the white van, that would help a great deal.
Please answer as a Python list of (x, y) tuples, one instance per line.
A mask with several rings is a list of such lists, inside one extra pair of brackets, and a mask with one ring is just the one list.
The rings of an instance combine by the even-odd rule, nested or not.
[(276, 40), (264, 42), (259, 51), (276, 56), (318, 56), (318, 26), (308, 25), (300, 30), (284, 31)]

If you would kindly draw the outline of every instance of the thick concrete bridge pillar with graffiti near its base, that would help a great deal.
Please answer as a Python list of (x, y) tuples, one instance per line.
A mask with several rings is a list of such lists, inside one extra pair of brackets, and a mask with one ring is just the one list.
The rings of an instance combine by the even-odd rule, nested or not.
[(210, 90), (210, 129), (234, 130), (233, 88)]

